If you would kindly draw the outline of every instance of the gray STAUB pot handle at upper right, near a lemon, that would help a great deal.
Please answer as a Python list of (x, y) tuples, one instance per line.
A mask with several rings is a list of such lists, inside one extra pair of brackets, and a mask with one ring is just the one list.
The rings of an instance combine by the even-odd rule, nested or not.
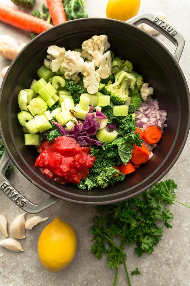
[(129, 19), (126, 22), (135, 26), (141, 23), (146, 23), (159, 31), (176, 46), (174, 57), (177, 62), (179, 62), (185, 45), (185, 40), (183, 36), (171, 25), (153, 14), (141, 14)]

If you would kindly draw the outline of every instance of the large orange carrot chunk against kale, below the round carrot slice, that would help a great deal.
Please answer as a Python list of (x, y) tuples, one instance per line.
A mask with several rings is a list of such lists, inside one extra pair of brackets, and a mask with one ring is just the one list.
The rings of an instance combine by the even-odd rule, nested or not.
[(142, 144), (142, 147), (135, 146), (132, 151), (131, 161), (134, 164), (146, 163), (149, 159), (150, 152), (148, 149)]

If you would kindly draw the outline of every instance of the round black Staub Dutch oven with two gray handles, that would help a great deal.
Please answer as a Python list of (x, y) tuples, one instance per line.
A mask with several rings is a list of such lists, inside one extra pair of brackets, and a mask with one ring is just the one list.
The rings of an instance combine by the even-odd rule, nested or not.
[[(135, 27), (140, 23), (149, 24), (174, 43), (174, 56), (154, 37)], [(108, 35), (113, 52), (132, 61), (134, 70), (154, 87), (160, 108), (166, 110), (168, 116), (164, 136), (149, 162), (123, 182), (88, 192), (50, 180), (35, 168), (37, 152), (24, 145), (22, 126), (17, 120), (18, 93), (30, 86), (36, 77), (49, 45), (74, 49), (91, 36), (101, 34)], [(176, 162), (189, 132), (189, 90), (178, 64), (183, 47), (184, 39), (177, 30), (149, 14), (134, 17), (127, 23), (102, 18), (68, 21), (30, 41), (12, 62), (1, 86), (1, 136), (6, 149), (0, 163), (1, 190), (24, 211), (38, 213), (60, 199), (81, 204), (118, 202), (140, 194), (158, 182)], [(33, 204), (7, 181), (4, 174), (10, 159), (31, 183), (50, 194), (45, 202)]]

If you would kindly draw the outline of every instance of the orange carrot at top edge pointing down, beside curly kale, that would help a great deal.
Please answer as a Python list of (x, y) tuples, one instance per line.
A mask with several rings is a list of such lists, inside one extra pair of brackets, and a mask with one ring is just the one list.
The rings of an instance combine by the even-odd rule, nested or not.
[(66, 22), (62, 0), (46, 0), (54, 26)]

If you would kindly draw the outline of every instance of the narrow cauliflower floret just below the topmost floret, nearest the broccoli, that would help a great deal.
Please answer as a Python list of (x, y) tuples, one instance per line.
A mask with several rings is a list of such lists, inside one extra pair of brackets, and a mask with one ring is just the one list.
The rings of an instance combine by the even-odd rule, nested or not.
[(100, 78), (108, 78), (111, 76), (111, 53), (107, 51), (100, 58), (100, 66), (97, 69), (97, 72), (100, 75)]

